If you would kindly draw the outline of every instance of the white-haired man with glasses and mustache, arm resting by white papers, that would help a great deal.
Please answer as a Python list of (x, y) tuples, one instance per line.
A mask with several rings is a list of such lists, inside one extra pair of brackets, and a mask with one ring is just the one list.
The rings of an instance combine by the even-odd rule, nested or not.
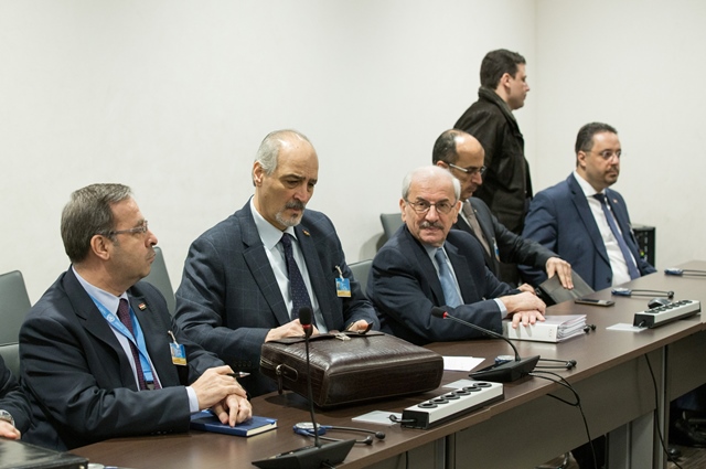
[(461, 186), (436, 166), (407, 174), (399, 201), (404, 225), (377, 252), (367, 295), (382, 330), (416, 344), (482, 335), (471, 328), (431, 317), (434, 307), (502, 333), (544, 320), (544, 302), (503, 284), (485, 267), (482, 247), (470, 234), (451, 230), (461, 209)]

